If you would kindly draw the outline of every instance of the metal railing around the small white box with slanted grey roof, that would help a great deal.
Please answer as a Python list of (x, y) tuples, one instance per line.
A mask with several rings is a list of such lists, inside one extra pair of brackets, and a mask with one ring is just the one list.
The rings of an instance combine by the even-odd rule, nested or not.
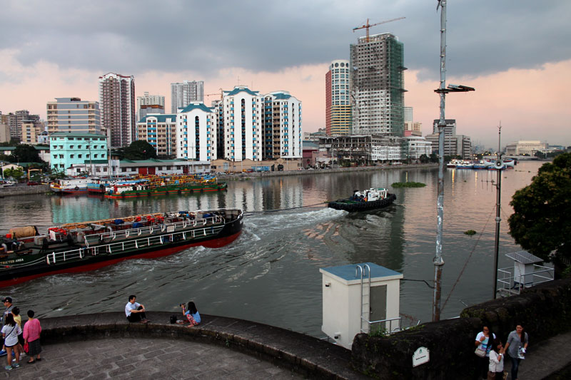
[(497, 269), (497, 292), (505, 295), (520, 294), (526, 287), (555, 279), (555, 269), (534, 264), (534, 272), (515, 275), (514, 267)]

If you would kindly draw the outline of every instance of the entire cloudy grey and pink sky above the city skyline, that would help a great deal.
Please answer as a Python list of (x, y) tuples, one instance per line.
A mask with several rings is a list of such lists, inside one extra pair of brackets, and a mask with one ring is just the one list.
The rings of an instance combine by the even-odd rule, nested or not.
[[(391, 33), (404, 43), (405, 105), (432, 133), (440, 101), (437, 0), (0, 0), (0, 111), (46, 118), (54, 98), (98, 100), (98, 77), (135, 77), (136, 95), (204, 81), (205, 103), (238, 84), (289, 91), (303, 130), (325, 127), (325, 73), (350, 43)], [(571, 145), (571, 1), (448, 0), (446, 118), (473, 144)]]

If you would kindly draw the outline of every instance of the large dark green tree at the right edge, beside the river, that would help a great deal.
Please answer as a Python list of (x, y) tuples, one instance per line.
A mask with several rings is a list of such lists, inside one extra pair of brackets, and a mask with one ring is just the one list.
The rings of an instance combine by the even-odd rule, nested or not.
[(510, 235), (524, 250), (553, 262), (559, 274), (571, 259), (571, 153), (542, 165), (510, 205)]

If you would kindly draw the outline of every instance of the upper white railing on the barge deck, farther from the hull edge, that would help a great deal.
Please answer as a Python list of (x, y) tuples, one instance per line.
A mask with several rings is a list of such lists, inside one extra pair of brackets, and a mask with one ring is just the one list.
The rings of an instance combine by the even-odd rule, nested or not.
[(84, 240), (87, 247), (98, 244), (98, 242), (111, 242), (113, 240), (128, 239), (141, 235), (153, 235), (161, 232), (175, 232), (176, 230), (186, 230), (189, 228), (200, 228), (207, 225), (219, 225), (224, 222), (220, 215), (205, 217), (201, 219), (182, 220), (181, 222), (164, 223), (162, 225), (151, 225), (146, 227), (129, 228), (128, 230), (114, 230), (101, 232), (98, 234), (85, 235)]

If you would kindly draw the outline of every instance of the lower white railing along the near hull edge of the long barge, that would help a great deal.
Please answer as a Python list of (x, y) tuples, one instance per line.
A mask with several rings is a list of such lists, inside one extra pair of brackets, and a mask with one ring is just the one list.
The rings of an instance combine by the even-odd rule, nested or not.
[(224, 225), (211, 225), (203, 228), (196, 228), (188, 231), (181, 232), (166, 232), (161, 235), (152, 235), (148, 237), (141, 237), (138, 239), (123, 240), (122, 242), (112, 242), (103, 245), (96, 245), (93, 247), (78, 248), (75, 250), (68, 250), (64, 252), (51, 252), (46, 255), (46, 263), (54, 265), (56, 262), (81, 260), (86, 256), (97, 255), (112, 255), (119, 252), (126, 252), (131, 250), (141, 250), (146, 247), (160, 247), (171, 242), (186, 241), (203, 239), (218, 235), (224, 228)]

